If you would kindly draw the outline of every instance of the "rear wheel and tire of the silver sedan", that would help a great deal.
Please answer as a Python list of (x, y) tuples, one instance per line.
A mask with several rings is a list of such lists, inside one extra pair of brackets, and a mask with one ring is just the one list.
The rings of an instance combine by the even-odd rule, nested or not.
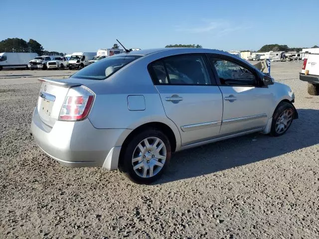
[(139, 184), (150, 184), (158, 180), (171, 156), (167, 136), (156, 128), (147, 128), (138, 133), (123, 149), (119, 169)]

